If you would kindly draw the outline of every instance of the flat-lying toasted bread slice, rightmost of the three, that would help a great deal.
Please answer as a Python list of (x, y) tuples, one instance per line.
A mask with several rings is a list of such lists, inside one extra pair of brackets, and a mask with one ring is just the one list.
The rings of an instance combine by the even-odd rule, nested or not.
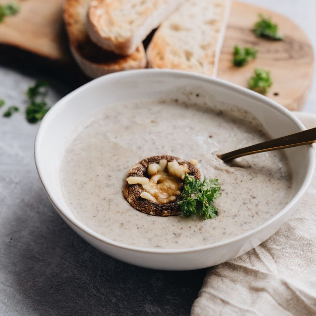
[(216, 76), (230, 0), (188, 0), (158, 28), (147, 48), (151, 68)]

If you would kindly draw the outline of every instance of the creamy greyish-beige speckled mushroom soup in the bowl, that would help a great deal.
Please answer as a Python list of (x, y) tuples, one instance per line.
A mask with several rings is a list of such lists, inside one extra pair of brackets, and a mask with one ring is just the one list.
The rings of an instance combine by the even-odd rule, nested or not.
[[(175, 101), (131, 102), (106, 107), (83, 125), (61, 170), (64, 195), (79, 221), (104, 237), (146, 248), (190, 248), (225, 240), (266, 222), (292, 195), (286, 156), (280, 152), (217, 158), (268, 139), (259, 121), (236, 107)], [(197, 159), (202, 178), (218, 178), (218, 217), (159, 217), (135, 210), (122, 187), (128, 170), (154, 155)]]

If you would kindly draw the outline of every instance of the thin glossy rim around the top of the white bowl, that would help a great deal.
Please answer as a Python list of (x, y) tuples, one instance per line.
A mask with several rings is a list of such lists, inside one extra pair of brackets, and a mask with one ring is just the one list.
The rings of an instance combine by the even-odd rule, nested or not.
[[(141, 75), (142, 73), (147, 72), (147, 73), (152, 73), (153, 76), (161, 73), (161, 74), (169, 74), (171, 76), (182, 76), (182, 77), (187, 77), (190, 80), (203, 80), (206, 82), (210, 82), (213, 86), (222, 86), (226, 87), (228, 89), (233, 90), (236, 93), (240, 93), (242, 95), (252, 97), (253, 99), (256, 99), (257, 101), (260, 101), (261, 103), (264, 103), (266, 106), (269, 106), (270, 108), (274, 108), (276, 111), (279, 113), (283, 114), (284, 116), (288, 117), (291, 119), (293, 123), (297, 125), (297, 127), (301, 130), (304, 131), (306, 130), (305, 126), (301, 123), (299, 119), (297, 119), (294, 114), (292, 114), (288, 109), (285, 107), (281, 106), (277, 102), (270, 100), (266, 96), (259, 94), (257, 92), (254, 92), (250, 89), (238, 86), (234, 83), (218, 79), (218, 78), (213, 78), (210, 76), (198, 74), (198, 73), (192, 73), (189, 71), (182, 71), (182, 70), (169, 70), (169, 69), (137, 69), (137, 70), (126, 70), (126, 71), (120, 71), (120, 72), (115, 72), (112, 74), (108, 74), (105, 76), (101, 76), (99, 78), (96, 78), (81, 87), (75, 89), (74, 91), (70, 92), (66, 96), (64, 96), (62, 99), (60, 99), (58, 102), (55, 103), (54, 106), (50, 109), (50, 111), (45, 115), (45, 117), (42, 119), (40, 126), (37, 130), (36, 136), (35, 136), (35, 142), (34, 142), (34, 159), (35, 159), (35, 166), (37, 173), (39, 175), (40, 181), (44, 187), (44, 190), (46, 192), (46, 195), (48, 196), (49, 200), (57, 210), (58, 214), (63, 218), (67, 219), (72, 225), (74, 225), (77, 229), (82, 231), (84, 234), (88, 234), (90, 237), (102, 242), (106, 243), (109, 246), (114, 246), (118, 248), (122, 248), (125, 250), (130, 250), (130, 251), (136, 251), (136, 252), (146, 252), (146, 253), (153, 253), (153, 254), (176, 254), (176, 253), (186, 253), (186, 252), (197, 252), (197, 251), (202, 251), (202, 250), (207, 250), (207, 249), (212, 249), (212, 248), (217, 248), (221, 246), (225, 246), (234, 242), (237, 242), (239, 240), (242, 240), (244, 238), (247, 238), (253, 234), (256, 234), (257, 232), (263, 230), (273, 222), (276, 222), (280, 217), (282, 217), (285, 213), (287, 213), (299, 200), (301, 197), (304, 196), (305, 192), (307, 191), (308, 186), (310, 185), (312, 179), (313, 179), (313, 174), (315, 171), (315, 151), (312, 145), (309, 148), (309, 165), (307, 168), (307, 175), (303, 181), (303, 184), (301, 185), (301, 188), (299, 191), (295, 194), (294, 197), (289, 201), (289, 203), (282, 209), (280, 210), (275, 216), (272, 216), (268, 221), (262, 223), (256, 228), (253, 228), (252, 230), (249, 230), (243, 234), (237, 235), (235, 237), (218, 241), (216, 243), (212, 243), (210, 245), (204, 245), (204, 246), (197, 246), (197, 247), (191, 247), (191, 248), (180, 248), (180, 249), (157, 249), (157, 248), (145, 248), (145, 247), (137, 247), (137, 246), (130, 246), (130, 245), (125, 245), (123, 243), (119, 243), (116, 241), (113, 241), (111, 239), (108, 239), (96, 232), (94, 232), (92, 229), (88, 228), (86, 225), (84, 225), (82, 222), (77, 220), (75, 217), (71, 217), (67, 215), (62, 207), (60, 207), (58, 201), (55, 200), (52, 194), (52, 190), (50, 189), (49, 183), (46, 181), (43, 172), (42, 172), (42, 163), (40, 161), (40, 139), (41, 135), (43, 134), (43, 130), (45, 130), (45, 126), (48, 125), (52, 118), (54, 118), (54, 113), (59, 112), (61, 108), (67, 104), (68, 100), (70, 100), (74, 95), (81, 93), (85, 89), (88, 89), (90, 86), (96, 84), (97, 82), (101, 82), (103, 80), (115, 80), (120, 77), (124, 76), (137, 76)], [(66, 222), (67, 222), (66, 221)], [(67, 222), (68, 223), (68, 222)], [(68, 223), (69, 224), (69, 223)]]

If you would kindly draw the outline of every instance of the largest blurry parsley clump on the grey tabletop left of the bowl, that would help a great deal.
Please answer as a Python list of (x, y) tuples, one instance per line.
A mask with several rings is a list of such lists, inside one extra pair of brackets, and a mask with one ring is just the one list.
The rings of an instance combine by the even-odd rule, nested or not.
[(49, 110), (46, 102), (48, 83), (43, 80), (35, 82), (34, 86), (27, 90), (29, 105), (26, 108), (26, 119), (29, 123), (40, 121)]

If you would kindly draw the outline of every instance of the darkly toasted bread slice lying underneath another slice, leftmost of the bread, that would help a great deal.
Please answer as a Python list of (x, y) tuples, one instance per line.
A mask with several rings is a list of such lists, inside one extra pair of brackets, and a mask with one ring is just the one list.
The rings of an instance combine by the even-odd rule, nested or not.
[(89, 0), (67, 0), (64, 6), (70, 49), (83, 72), (97, 78), (116, 71), (145, 68), (147, 60), (142, 43), (131, 56), (119, 56), (90, 40), (86, 30), (89, 3)]

